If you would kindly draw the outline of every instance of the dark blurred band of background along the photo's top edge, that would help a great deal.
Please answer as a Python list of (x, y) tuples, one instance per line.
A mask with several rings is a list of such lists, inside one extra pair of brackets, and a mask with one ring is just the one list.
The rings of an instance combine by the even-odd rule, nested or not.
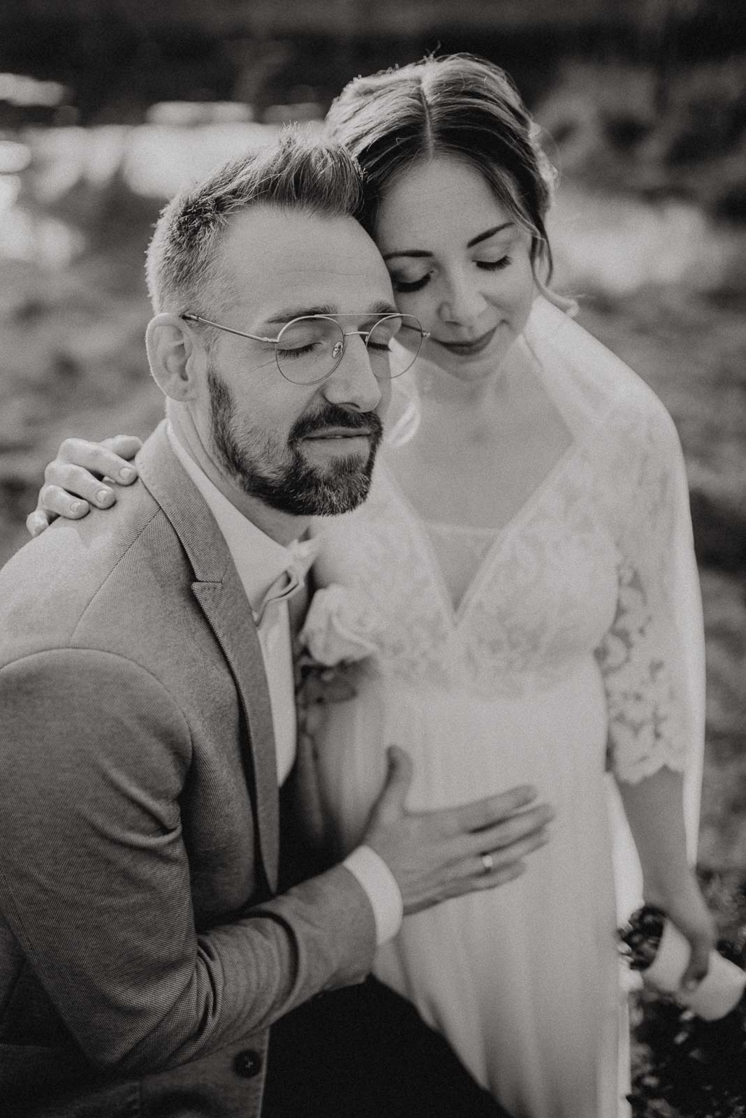
[(567, 57), (637, 61), (662, 83), (676, 60), (744, 51), (746, 8), (734, 0), (0, 4), (0, 72), (65, 83), (65, 120), (77, 114), (86, 124), (141, 122), (150, 104), (175, 100), (246, 101), (258, 120), (276, 104), (315, 101), (325, 110), (355, 74), (432, 50), (477, 50), (499, 60), (534, 102)]

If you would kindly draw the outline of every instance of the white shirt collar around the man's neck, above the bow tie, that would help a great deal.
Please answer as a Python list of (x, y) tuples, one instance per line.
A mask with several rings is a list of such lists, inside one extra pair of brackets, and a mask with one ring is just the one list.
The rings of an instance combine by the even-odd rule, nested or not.
[(283, 571), (296, 565), (298, 552), (303, 555), (307, 543), (298, 543), (297, 540), (294, 540), (286, 548), (272, 540), (239, 512), (218, 486), (210, 481), (180, 443), (170, 423), (166, 424), (166, 434), (173, 453), (197, 485), (217, 520), (251, 609), (255, 616), (259, 615), (269, 587), (277, 581)]

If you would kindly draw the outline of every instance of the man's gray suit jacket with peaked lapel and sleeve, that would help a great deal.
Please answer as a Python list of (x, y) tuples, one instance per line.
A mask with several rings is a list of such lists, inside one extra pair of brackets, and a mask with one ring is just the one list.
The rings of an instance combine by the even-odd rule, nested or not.
[(250, 609), (161, 426), (0, 572), (0, 1114), (258, 1115), (268, 1029), (360, 980), (343, 866), (275, 896)]

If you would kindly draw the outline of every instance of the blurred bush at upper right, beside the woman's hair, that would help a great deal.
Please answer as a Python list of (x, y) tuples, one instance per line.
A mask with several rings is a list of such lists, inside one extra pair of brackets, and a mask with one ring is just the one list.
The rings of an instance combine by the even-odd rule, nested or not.
[(746, 221), (746, 54), (677, 68), (566, 63), (538, 113), (567, 173)]

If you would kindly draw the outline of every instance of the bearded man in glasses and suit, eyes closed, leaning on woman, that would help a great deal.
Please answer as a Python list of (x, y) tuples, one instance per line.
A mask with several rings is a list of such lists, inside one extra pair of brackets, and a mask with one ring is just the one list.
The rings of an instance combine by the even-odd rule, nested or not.
[(507, 880), (547, 819), (533, 790), (410, 813), (392, 749), (361, 846), (278, 884), (278, 788), (318, 822), (295, 735), (298, 540), (365, 499), (422, 340), (357, 196), (342, 149), (287, 135), (171, 202), (147, 259), (168, 419), (140, 481), (0, 574), (8, 1118), (254, 1118), (269, 1027), (318, 994), (278, 1027), (269, 1116), (500, 1112), (394, 995), (375, 995), (386, 1035), (363, 997), (335, 1055), (326, 992), (362, 982), (402, 913)]

